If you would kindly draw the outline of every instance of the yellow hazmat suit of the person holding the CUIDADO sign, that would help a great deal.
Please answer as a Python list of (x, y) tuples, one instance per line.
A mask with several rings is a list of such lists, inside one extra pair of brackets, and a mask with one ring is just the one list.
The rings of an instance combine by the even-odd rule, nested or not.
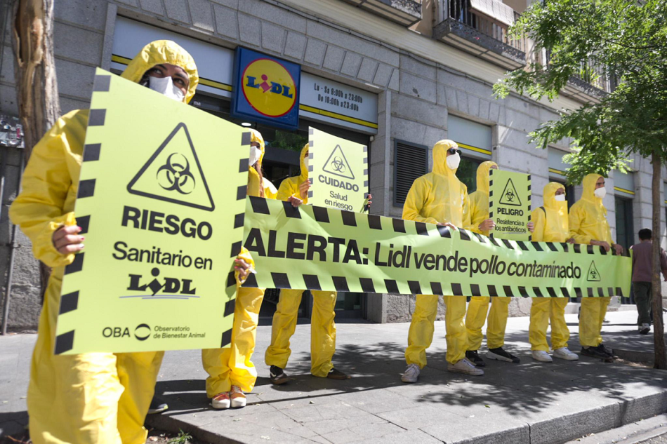
[[(299, 185), (308, 180), (308, 168), (305, 156), (308, 155), (308, 144), (301, 149), (301, 174), (288, 177), (278, 188), (277, 199), (286, 201), (289, 196), (301, 198)], [(308, 196), (303, 198), (308, 203)], [(304, 290), (280, 290), (280, 298), (273, 315), (271, 329), (271, 345), (266, 349), (265, 362), (285, 368), (291, 350), (289, 339), (296, 329), (296, 318)], [(331, 358), (336, 352), (336, 323), (334, 323), (335, 291), (310, 290), (312, 293), (312, 315), (310, 316), (310, 373), (317, 377), (326, 377), (334, 368)]]

